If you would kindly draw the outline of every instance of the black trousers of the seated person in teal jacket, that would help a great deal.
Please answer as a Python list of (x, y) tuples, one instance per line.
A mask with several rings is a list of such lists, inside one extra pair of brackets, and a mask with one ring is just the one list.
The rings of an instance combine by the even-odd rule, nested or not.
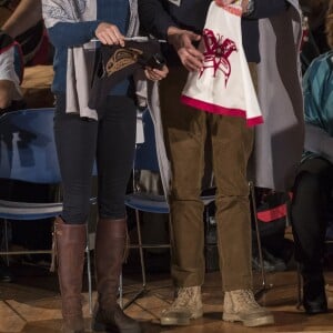
[(333, 190), (333, 164), (305, 160), (296, 176), (291, 206), (295, 259), (303, 271), (322, 270), (327, 210)]

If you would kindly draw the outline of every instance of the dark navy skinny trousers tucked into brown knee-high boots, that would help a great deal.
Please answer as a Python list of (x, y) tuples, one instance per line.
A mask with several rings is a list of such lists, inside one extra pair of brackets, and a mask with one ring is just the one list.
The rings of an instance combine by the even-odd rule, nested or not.
[(108, 97), (99, 120), (65, 113), (65, 97), (57, 95), (54, 135), (62, 176), (65, 223), (85, 223), (91, 173), (98, 167), (98, 209), (101, 218), (123, 219), (137, 129), (137, 108), (129, 97)]

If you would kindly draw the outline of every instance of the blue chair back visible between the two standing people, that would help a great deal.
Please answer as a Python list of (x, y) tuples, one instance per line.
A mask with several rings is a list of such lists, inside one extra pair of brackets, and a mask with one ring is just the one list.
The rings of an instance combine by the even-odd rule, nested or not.
[(144, 142), (137, 144), (134, 170), (150, 170), (152, 172), (160, 172), (154, 125), (149, 110), (145, 110), (142, 113), (142, 124)]

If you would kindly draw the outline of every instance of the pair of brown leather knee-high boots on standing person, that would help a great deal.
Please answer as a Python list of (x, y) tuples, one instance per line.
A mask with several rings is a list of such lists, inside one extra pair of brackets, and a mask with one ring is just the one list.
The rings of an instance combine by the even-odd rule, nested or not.
[[(100, 219), (95, 239), (98, 303), (92, 320), (94, 331), (141, 332), (140, 325), (127, 316), (117, 303), (125, 242), (125, 219)], [(85, 332), (81, 302), (85, 244), (85, 224), (67, 224), (60, 218), (56, 219), (54, 246), (64, 333)]]

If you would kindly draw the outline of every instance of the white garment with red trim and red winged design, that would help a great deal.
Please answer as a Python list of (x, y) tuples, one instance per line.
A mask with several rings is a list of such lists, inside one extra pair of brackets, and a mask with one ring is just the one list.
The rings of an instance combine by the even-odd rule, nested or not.
[(242, 9), (212, 1), (199, 49), (203, 69), (190, 72), (181, 101), (199, 110), (243, 117), (248, 125), (263, 122), (242, 46)]

